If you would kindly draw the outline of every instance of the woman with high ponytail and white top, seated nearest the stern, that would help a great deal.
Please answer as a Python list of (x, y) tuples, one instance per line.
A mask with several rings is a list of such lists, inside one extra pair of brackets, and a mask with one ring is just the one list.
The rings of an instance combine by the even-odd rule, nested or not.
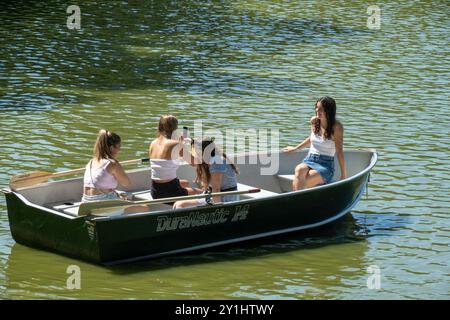
[(98, 133), (94, 157), (84, 173), (83, 202), (119, 199), (117, 186), (130, 185), (130, 179), (117, 161), (120, 142), (120, 136), (114, 132), (101, 129)]

